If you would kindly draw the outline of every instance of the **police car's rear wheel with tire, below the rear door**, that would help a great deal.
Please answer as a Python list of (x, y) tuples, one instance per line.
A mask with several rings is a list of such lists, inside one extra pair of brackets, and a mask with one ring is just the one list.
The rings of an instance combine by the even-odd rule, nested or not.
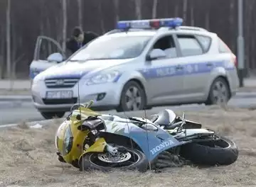
[(216, 105), (220, 103), (228, 103), (230, 99), (230, 88), (228, 83), (222, 77), (218, 77), (210, 86), (210, 91), (206, 105)]

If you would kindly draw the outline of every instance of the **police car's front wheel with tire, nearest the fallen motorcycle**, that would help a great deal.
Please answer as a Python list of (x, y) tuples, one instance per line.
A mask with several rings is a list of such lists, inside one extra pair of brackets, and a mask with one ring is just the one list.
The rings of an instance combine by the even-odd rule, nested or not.
[(144, 89), (136, 82), (129, 81), (122, 90), (119, 107), (117, 112), (121, 111), (139, 111), (146, 106), (146, 94)]

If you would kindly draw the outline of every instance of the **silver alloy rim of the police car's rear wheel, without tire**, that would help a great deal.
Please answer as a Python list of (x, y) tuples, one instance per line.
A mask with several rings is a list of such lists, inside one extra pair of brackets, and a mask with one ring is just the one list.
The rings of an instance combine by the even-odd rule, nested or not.
[(216, 104), (226, 103), (228, 100), (228, 89), (222, 81), (215, 82), (213, 86), (213, 101)]

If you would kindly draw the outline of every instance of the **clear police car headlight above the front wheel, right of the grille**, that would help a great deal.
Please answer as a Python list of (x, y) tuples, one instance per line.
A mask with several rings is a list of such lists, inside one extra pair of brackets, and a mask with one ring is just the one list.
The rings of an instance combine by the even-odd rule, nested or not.
[(120, 72), (113, 71), (113, 72), (107, 72), (105, 74), (98, 74), (95, 77), (92, 77), (88, 79), (86, 82), (87, 85), (92, 84), (104, 84), (107, 82), (116, 81), (120, 76)]

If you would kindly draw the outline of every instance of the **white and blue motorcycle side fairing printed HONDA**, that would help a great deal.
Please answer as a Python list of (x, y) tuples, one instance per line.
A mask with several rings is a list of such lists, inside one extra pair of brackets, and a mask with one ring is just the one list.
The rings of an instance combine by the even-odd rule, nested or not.
[(153, 161), (159, 153), (186, 143), (179, 142), (169, 135), (166, 130), (151, 123), (149, 119), (136, 118), (142, 122), (144, 121), (144, 124), (141, 124), (137, 121), (119, 118), (116, 115), (112, 115), (112, 118), (102, 115), (102, 118), (105, 119), (105, 132), (125, 136), (133, 140), (142, 149), (149, 162)]

